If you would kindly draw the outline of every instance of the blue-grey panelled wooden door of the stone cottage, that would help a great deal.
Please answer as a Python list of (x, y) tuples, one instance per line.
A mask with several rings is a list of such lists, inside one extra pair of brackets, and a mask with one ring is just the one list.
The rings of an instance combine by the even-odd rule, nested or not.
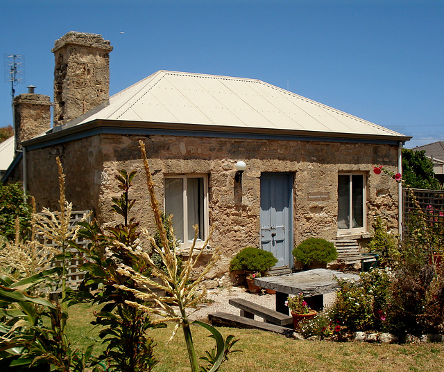
[(291, 181), (289, 173), (261, 175), (261, 247), (278, 258), (276, 268), (293, 266)]

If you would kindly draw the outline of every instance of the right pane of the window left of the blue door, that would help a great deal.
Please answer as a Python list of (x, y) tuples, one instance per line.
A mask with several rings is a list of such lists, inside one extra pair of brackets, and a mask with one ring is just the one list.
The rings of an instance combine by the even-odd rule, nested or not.
[(187, 181), (188, 240), (194, 239), (195, 224), (199, 227), (198, 239), (203, 240), (203, 178), (189, 178)]

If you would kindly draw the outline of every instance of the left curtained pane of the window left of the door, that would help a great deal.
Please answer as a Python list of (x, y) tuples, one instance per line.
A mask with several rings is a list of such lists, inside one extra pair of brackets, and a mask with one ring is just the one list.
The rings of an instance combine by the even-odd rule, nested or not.
[(183, 242), (183, 179), (165, 179), (165, 213), (173, 215), (176, 239)]

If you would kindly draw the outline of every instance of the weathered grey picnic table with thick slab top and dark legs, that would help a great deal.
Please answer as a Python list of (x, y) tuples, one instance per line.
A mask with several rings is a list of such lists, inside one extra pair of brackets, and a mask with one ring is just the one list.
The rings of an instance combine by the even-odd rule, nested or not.
[(335, 277), (359, 279), (359, 275), (356, 274), (345, 274), (329, 269), (312, 269), (280, 276), (256, 278), (255, 285), (275, 290), (276, 311), (289, 315), (289, 308), (285, 305), (289, 294), (303, 293), (305, 301), (311, 309), (322, 310), (324, 294), (335, 292), (339, 288)]

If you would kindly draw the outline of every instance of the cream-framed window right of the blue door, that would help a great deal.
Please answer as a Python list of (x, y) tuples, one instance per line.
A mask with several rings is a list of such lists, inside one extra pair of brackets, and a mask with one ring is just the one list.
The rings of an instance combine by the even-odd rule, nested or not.
[(338, 232), (366, 231), (366, 175), (338, 175)]

